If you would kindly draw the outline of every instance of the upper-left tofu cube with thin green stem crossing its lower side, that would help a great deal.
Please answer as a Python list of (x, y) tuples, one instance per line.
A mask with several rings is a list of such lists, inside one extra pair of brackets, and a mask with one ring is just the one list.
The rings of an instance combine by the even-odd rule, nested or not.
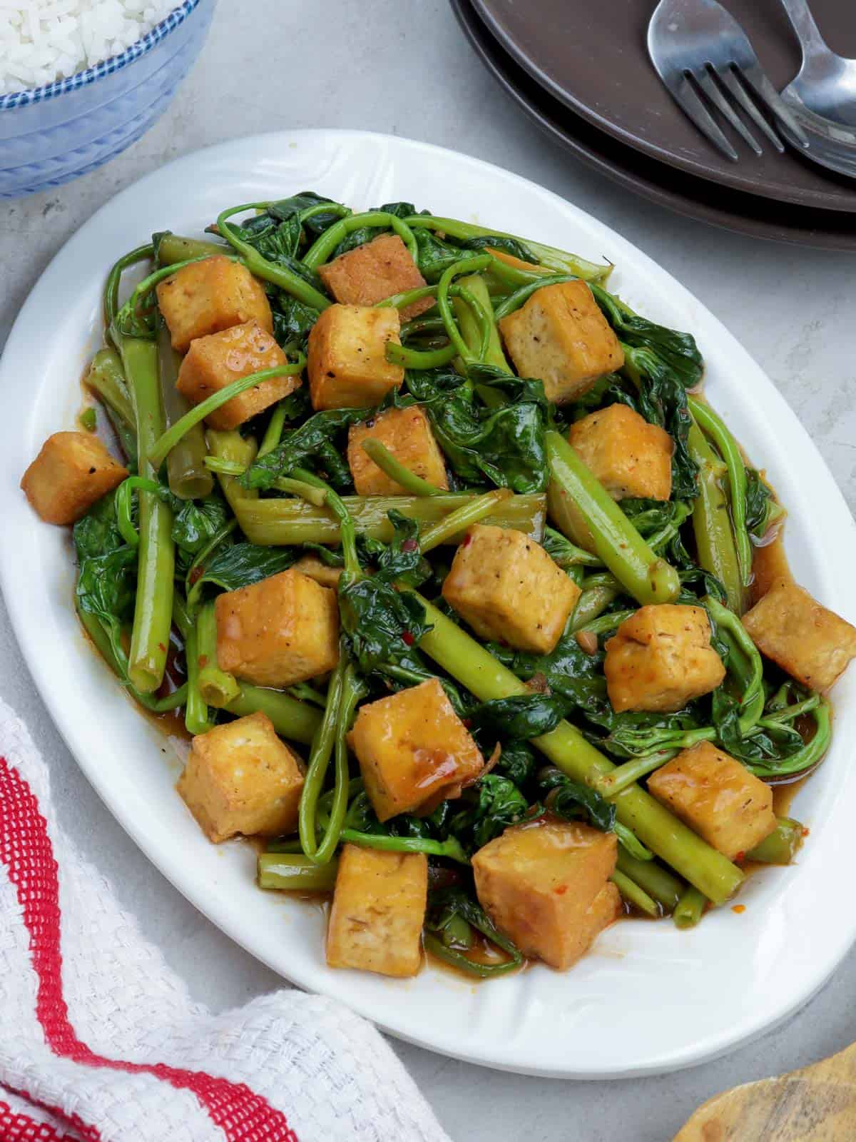
[[(191, 341), (178, 370), (176, 387), (192, 404), (201, 404), (234, 380), (263, 369), (275, 369), (285, 364), (286, 360), (270, 333), (257, 322), (245, 321), (242, 325), (232, 325), (219, 333), (196, 337)], [(293, 393), (300, 384), (298, 376), (268, 377), (209, 412), (205, 424), (219, 432), (228, 432)]]

